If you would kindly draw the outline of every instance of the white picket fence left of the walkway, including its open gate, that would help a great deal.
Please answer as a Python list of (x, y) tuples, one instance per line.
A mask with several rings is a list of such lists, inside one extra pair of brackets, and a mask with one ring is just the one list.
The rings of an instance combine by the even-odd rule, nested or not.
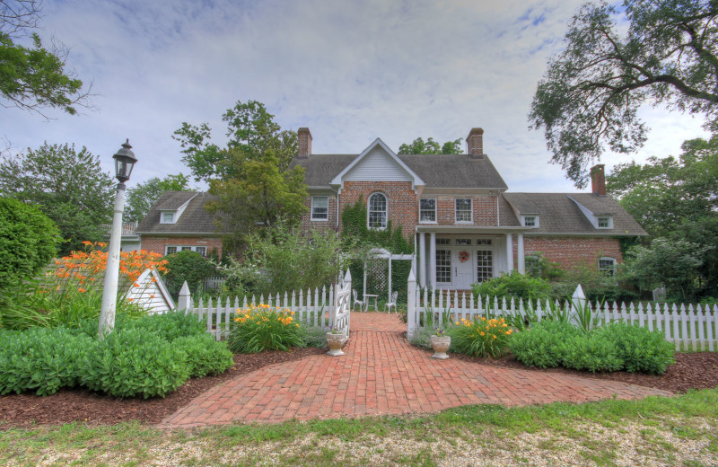
[[(348, 292), (347, 292), (348, 290)], [(349, 334), (349, 312), (351, 303), (349, 294), (351, 292), (351, 275), (346, 271), (346, 277), (337, 285), (322, 286), (299, 292), (274, 295), (244, 295), (230, 297), (223, 301), (211, 298), (204, 301), (200, 297), (195, 303), (189, 292), (187, 282), (182, 285), (180, 296), (177, 302), (177, 309), (185, 313), (194, 313), (201, 322), (206, 322), (207, 331), (212, 333), (217, 340), (226, 338), (230, 329), (230, 322), (236, 313), (250, 304), (268, 304), (272, 307), (289, 309), (294, 312), (294, 320), (310, 326), (318, 326), (329, 329), (330, 326), (338, 330), (345, 330)]]

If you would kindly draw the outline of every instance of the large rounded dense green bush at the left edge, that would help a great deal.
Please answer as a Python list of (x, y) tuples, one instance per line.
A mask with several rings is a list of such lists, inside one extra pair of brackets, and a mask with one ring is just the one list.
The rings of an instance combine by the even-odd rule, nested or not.
[(0, 290), (37, 274), (55, 256), (60, 241), (57, 225), (38, 207), (0, 198)]

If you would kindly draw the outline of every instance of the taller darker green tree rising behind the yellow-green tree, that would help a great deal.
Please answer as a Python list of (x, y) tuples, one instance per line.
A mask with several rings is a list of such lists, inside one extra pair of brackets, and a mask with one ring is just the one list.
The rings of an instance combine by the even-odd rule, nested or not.
[(261, 102), (237, 101), (222, 116), (227, 123), (226, 136), (230, 138), (226, 146), (211, 142), (212, 130), (206, 123), (197, 127), (183, 122), (172, 138), (180, 142), (185, 154), (182, 162), (197, 181), (235, 177), (238, 174), (232, 171), (239, 166), (238, 157), (246, 161), (259, 159), (269, 150), (276, 157), (279, 170), (285, 171), (297, 153), (297, 134), (282, 130), (274, 117)]

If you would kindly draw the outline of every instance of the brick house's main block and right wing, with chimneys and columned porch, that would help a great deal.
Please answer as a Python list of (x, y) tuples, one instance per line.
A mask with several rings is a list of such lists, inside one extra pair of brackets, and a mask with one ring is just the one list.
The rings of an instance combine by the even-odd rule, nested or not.
[(563, 269), (579, 264), (613, 274), (621, 237), (644, 229), (606, 195), (603, 165), (591, 169), (591, 193), (511, 193), (483, 151), (484, 130), (468, 133), (468, 154), (395, 154), (377, 138), (361, 154), (311, 154), (299, 128), (310, 198), (302, 227), (341, 229), (341, 212), (358, 199), (367, 226), (401, 225), (415, 244), (421, 286), (468, 289), (503, 272), (525, 272), (538, 252)]

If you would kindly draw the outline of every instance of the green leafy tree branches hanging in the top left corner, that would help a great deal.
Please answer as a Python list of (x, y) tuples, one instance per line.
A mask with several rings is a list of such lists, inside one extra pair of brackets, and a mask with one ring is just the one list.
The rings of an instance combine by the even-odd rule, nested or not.
[[(66, 70), (68, 49), (59, 42), (45, 48), (39, 35), (38, 0), (0, 0), (0, 106), (45, 116), (55, 108), (74, 115), (87, 106), (89, 89)], [(31, 47), (18, 43), (30, 37)]]

